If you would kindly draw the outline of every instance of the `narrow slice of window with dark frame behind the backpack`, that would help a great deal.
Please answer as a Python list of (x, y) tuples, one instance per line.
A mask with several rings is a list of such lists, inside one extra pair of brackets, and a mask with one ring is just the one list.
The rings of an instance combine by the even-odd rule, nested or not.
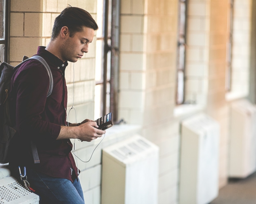
[(0, 0), (0, 60), (9, 62), (8, 42), (9, 42), (9, 1)]

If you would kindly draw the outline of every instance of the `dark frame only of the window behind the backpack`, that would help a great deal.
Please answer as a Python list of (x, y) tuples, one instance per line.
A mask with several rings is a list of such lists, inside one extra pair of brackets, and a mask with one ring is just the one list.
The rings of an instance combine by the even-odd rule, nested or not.
[(10, 47), (10, 1), (5, 1), (5, 19), (4, 19), (4, 40), (0, 40), (0, 45), (4, 45), (4, 62), (9, 63)]

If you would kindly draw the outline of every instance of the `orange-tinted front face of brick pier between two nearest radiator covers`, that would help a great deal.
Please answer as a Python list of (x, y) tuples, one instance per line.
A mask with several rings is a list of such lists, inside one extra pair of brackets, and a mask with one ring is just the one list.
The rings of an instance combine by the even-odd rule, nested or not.
[(145, 1), (143, 136), (160, 147), (158, 202), (177, 203), (179, 124), (175, 106), (177, 0)]

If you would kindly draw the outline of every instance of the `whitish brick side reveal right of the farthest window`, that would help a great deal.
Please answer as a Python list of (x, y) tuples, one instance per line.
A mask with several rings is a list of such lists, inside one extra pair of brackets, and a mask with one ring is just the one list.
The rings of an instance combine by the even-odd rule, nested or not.
[(249, 94), (251, 0), (234, 1), (232, 75), (228, 99)]

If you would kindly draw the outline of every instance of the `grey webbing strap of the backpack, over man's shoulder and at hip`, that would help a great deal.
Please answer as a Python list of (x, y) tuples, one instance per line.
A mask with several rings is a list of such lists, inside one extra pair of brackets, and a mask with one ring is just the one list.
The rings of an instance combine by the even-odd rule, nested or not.
[[(25, 60), (17, 66), (22, 65), (24, 62), (26, 62), (27, 60), (30, 60), (30, 59), (35, 59), (35, 60), (41, 62), (43, 64), (43, 66), (45, 66), (45, 68), (47, 70), (47, 73), (49, 75), (49, 79), (50, 79), (50, 86), (49, 86), (49, 90), (48, 90), (48, 93), (47, 93), (47, 97), (50, 96), (51, 93), (52, 93), (52, 88), (53, 88), (53, 78), (52, 78), (52, 72), (50, 70), (50, 67), (47, 64), (47, 62), (45, 61), (45, 59), (43, 59), (43, 57), (40, 57), (40, 56), (37, 56), (37, 55), (32, 56), (30, 58), (28, 58), (27, 56), (24, 56), (23, 59), (25, 59)], [(33, 159), (34, 159), (34, 164), (38, 164), (38, 163), (40, 163), (40, 160), (39, 160), (39, 157), (38, 157), (36, 144), (35, 144), (34, 141), (31, 140), (30, 145), (31, 145)]]

